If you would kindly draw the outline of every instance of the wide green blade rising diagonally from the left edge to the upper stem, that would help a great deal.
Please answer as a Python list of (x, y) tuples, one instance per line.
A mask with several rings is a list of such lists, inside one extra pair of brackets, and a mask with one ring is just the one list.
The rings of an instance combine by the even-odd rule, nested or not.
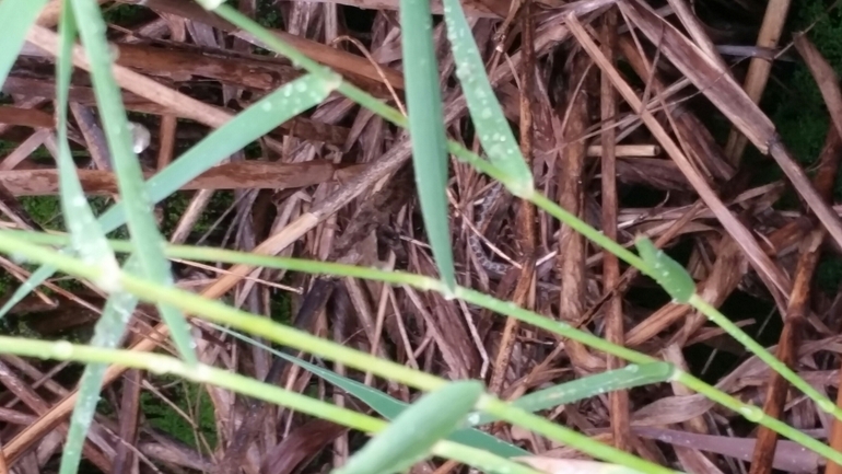
[[(331, 89), (341, 81), (339, 76), (334, 74), (332, 78), (335, 82), (325, 86), (323, 80), (312, 74), (301, 77), (260, 99), (224, 126), (211, 131), (145, 183), (145, 192), (150, 200), (154, 204), (160, 203), (269, 130), (321, 103), (330, 94)], [(295, 94), (294, 91), (299, 89), (311, 93)], [(318, 91), (318, 95), (314, 94), (314, 91)], [(105, 232), (112, 232), (124, 223), (126, 223), (126, 212), (122, 203), (112, 206), (100, 217), (100, 224)], [(43, 266), (35, 270), (0, 309), (0, 317), (55, 273), (56, 269), (50, 266)]]

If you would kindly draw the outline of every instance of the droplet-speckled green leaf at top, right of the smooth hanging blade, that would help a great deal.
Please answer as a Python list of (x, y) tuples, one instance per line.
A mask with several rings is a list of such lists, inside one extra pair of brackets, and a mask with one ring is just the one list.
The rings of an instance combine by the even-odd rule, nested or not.
[(533, 173), (488, 80), (482, 56), (459, 0), (444, 0), (444, 21), (456, 62), (456, 76), (480, 143), (491, 163), (506, 176), (508, 190), (515, 196), (528, 197), (534, 190)]

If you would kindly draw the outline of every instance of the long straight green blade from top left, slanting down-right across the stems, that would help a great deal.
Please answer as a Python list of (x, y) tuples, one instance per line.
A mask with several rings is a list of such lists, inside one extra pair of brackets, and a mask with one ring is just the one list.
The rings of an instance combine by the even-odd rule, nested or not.
[[(108, 150), (114, 159), (114, 173), (121, 204), (127, 207), (129, 235), (137, 246), (143, 275), (165, 286), (173, 286), (169, 261), (164, 258), (164, 239), (152, 215), (152, 205), (143, 188), (140, 160), (133, 151), (131, 129), (126, 117), (120, 90), (112, 74), (113, 51), (105, 37), (106, 25), (95, 0), (70, 0), (85, 54), (91, 63), (91, 79), (100, 108)], [(197, 363), (190, 326), (184, 314), (172, 304), (157, 304), (161, 317), (178, 354), (188, 363)]]

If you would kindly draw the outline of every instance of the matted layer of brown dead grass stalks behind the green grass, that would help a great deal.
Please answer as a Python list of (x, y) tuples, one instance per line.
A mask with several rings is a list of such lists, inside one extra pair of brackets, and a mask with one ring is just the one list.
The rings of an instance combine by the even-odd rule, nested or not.
[[(191, 1), (101, 3), (108, 11), (127, 3), (143, 5), (132, 7), (130, 15), (113, 24), (110, 36), (119, 49), (117, 63), (161, 88), (149, 89), (137, 74), (116, 74), (127, 108), (137, 113), (132, 119), (151, 131), (151, 146), (143, 153), (150, 174), (211, 128), (299, 76), (289, 61), (265, 54), (249, 35)], [(762, 95), (771, 61), (782, 53), (776, 38), (787, 2), (732, 5), (764, 21), (738, 45), (732, 43), (739, 42), (733, 32), (702, 23), (688, 3), (635, 0), (622, 9), (596, 0), (463, 4), (475, 22), (475, 37), (498, 96), (519, 130), (538, 188), (623, 244), (635, 234), (650, 235), (687, 265), (700, 293), (714, 305), (735, 298), (750, 301), (740, 308), (745, 312), (732, 316), (751, 334), (767, 323), (751, 305), (776, 308), (770, 331), (777, 356), (832, 395), (838, 385), (839, 303), (811, 291), (811, 276), (822, 252), (839, 252), (842, 235), (830, 203), (842, 152), (837, 78), (809, 36), (798, 37), (799, 60), (821, 84), (833, 124), (808, 178), (776, 141), (773, 124), (749, 106)], [(402, 103), (397, 1), (241, 0), (238, 4), (265, 21), (282, 19), (273, 26), (283, 39), (373, 95)], [(767, 8), (779, 13), (763, 16)], [(15, 147), (0, 159), (0, 200), (8, 226), (39, 227), (17, 197), (57, 192), (55, 162), (33, 155), (40, 146), (50, 152), (55, 148), (48, 28), (55, 26), (56, 13), (45, 11), (40, 28), (31, 33), (31, 44), (2, 88), (12, 101), (0, 106), (0, 138)], [(635, 26), (634, 35), (630, 25)], [(440, 25), (435, 38), (447, 130), (476, 150), (443, 33)], [(746, 93), (740, 92), (742, 84)], [(82, 70), (74, 74), (70, 97), (75, 125), (71, 138), (86, 157), (79, 162), (82, 184), (92, 195), (109, 196), (116, 187), (91, 83)], [(641, 103), (648, 112), (640, 113)], [(745, 135), (732, 130), (715, 137), (709, 131), (724, 117)], [(757, 169), (744, 160), (751, 147), (774, 157), (776, 164), (769, 165), (780, 165), (786, 181), (756, 185)], [(214, 245), (434, 275), (408, 160), (402, 130), (342, 96), (331, 96), (190, 183), (183, 195), (189, 205), (178, 213), (168, 236), (176, 243), (196, 243), (202, 232), (192, 229), (213, 195), (232, 193), (231, 208), (217, 209), (223, 217), (217, 222), (220, 231), (210, 238)], [(721, 390), (761, 404), (797, 428), (830, 437), (831, 420), (797, 394), (787, 395), (785, 383), (703, 317), (670, 303), (651, 281), (513, 199), (469, 166), (454, 162), (452, 176), (452, 229), (463, 285), (689, 366)], [(776, 210), (782, 196), (793, 190), (803, 206)], [(165, 204), (162, 213), (172, 205)], [(19, 278), (27, 275), (10, 261), (0, 264)], [(438, 294), (278, 271), (253, 274), (246, 267), (189, 262), (179, 262), (178, 267), (182, 285), (210, 298), (225, 297), (274, 319), (289, 319), (278, 313), (290, 305), (300, 327), (447, 378), (482, 378), (505, 398), (621, 366), (580, 344)], [(94, 289), (68, 291), (55, 282), (48, 288), (49, 296), (34, 294), (15, 308), (28, 327), (60, 337), (62, 331), (96, 320), (103, 300)], [(155, 349), (157, 343), (149, 336), (156, 324), (155, 311), (141, 307), (129, 344)], [(201, 357), (207, 363), (358, 405), (306, 373), (273, 363), (264, 350), (207, 327), (202, 335)], [(710, 372), (709, 355), (714, 366)], [(406, 388), (332, 369), (400, 400), (414, 396)], [(63, 366), (0, 358), (4, 386), (0, 443), (7, 466), (28, 473), (55, 469), (75, 377)], [(107, 380), (104, 398), (110, 408), (97, 418), (84, 452), (91, 469), (103, 472), (323, 471), (341, 463), (362, 439), (330, 423), (206, 388), (214, 419), (202, 426), (215, 427), (218, 442), (199, 440), (194, 443), (199, 448), (194, 448), (144, 413), (142, 393), (163, 400), (172, 388), (118, 368)], [(775, 450), (770, 432), (681, 386), (613, 393), (546, 415), (687, 472), (825, 469), (822, 460), (787, 442), (779, 442)], [(196, 424), (198, 438), (208, 435), (200, 425)], [(505, 426), (495, 426), (493, 432), (537, 454), (576, 454)], [(831, 442), (842, 447), (842, 440)], [(463, 467), (430, 462), (416, 469), (444, 473)]]

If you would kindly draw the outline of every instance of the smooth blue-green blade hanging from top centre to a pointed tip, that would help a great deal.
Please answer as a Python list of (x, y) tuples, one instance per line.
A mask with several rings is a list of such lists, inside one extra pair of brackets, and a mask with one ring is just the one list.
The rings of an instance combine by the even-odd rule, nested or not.
[(409, 136), (421, 215), (435, 264), (447, 288), (456, 286), (447, 216), (447, 140), (430, 0), (400, 0)]

